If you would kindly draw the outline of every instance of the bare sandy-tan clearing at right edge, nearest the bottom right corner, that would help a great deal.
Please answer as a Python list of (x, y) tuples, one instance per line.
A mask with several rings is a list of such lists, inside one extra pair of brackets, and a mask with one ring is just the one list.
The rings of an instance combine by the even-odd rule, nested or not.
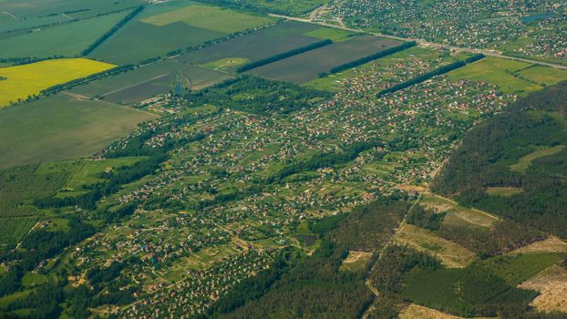
[(520, 285), (524, 289), (540, 292), (531, 303), (541, 312), (567, 313), (567, 270), (552, 266)]

